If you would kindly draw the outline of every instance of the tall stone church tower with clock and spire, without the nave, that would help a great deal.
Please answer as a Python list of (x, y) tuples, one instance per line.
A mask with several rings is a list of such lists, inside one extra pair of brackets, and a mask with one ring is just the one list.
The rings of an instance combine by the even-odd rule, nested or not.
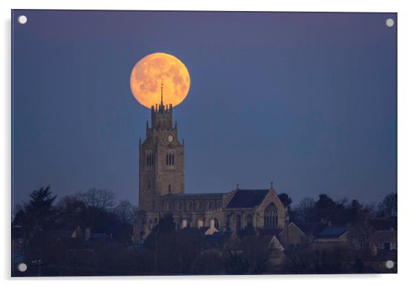
[(173, 127), (173, 106), (162, 101), (151, 107), (151, 127), (140, 140), (140, 210), (155, 210), (158, 196), (184, 192), (184, 140)]

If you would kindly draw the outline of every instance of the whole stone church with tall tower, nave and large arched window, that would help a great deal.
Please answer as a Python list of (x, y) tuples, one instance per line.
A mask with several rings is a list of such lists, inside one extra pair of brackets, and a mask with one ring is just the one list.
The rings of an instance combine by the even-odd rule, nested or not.
[(289, 220), (272, 184), (228, 192), (184, 192), (184, 140), (173, 125), (173, 107), (161, 102), (151, 107), (151, 126), (139, 145), (139, 207), (133, 241), (141, 241), (161, 217), (172, 214), (176, 229), (209, 227), (210, 232), (254, 228), (283, 229)]

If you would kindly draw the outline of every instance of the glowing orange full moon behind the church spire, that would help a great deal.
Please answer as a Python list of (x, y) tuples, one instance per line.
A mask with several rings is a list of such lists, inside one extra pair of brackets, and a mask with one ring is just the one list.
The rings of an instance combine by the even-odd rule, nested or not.
[(151, 108), (160, 104), (161, 87), (164, 104), (180, 104), (190, 89), (190, 74), (184, 63), (171, 54), (144, 56), (132, 69), (131, 91), (140, 104)]

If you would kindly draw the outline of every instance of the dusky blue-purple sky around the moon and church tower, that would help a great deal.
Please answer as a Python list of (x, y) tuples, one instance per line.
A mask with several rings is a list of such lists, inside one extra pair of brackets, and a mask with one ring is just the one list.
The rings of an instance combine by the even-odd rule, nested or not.
[[(16, 202), (108, 188), (138, 204), (140, 58), (177, 56), (186, 192), (380, 201), (397, 188), (396, 14), (14, 10)], [(25, 14), (28, 23), (17, 17)]]

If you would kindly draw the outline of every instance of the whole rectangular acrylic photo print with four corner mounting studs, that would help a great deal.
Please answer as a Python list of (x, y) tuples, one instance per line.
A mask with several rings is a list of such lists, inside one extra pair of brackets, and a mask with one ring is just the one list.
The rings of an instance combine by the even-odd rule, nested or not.
[(396, 273), (396, 68), (396, 13), (12, 10), (12, 276)]

